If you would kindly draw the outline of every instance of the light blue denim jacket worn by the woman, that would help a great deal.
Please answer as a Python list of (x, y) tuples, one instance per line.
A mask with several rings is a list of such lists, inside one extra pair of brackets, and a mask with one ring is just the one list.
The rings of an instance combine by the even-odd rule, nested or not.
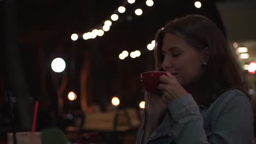
[[(162, 122), (147, 143), (247, 144), (253, 140), (253, 111), (245, 93), (232, 89), (209, 107), (198, 106), (191, 94), (168, 104)], [(145, 115), (136, 143), (142, 143)]]

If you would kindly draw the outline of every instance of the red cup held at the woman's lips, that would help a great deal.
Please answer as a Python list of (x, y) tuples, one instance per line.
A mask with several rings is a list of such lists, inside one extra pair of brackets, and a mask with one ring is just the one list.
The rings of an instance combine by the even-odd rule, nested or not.
[(141, 82), (148, 92), (161, 92), (158, 89), (158, 85), (160, 83), (159, 77), (161, 75), (167, 75), (166, 71), (146, 71), (144, 73), (141, 73)]

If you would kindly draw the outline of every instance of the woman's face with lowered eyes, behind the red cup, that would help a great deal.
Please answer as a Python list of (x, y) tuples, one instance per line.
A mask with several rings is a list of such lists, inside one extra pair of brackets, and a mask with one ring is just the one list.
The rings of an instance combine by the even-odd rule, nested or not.
[(162, 45), (164, 61), (161, 64), (164, 71), (176, 77), (184, 87), (189, 87), (202, 75), (202, 52), (185, 43), (174, 34), (166, 34)]

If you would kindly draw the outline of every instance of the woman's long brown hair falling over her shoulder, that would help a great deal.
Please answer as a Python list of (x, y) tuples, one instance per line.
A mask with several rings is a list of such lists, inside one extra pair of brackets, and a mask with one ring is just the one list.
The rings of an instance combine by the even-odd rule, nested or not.
[(196, 93), (193, 93), (197, 104), (210, 105), (221, 93), (235, 88), (249, 97), (245, 73), (223, 33), (211, 20), (201, 15), (188, 15), (175, 19), (159, 29), (155, 37), (156, 69), (161, 69), (164, 59), (161, 53), (162, 40), (167, 33), (182, 38), (196, 50), (201, 51), (208, 47), (208, 61), (203, 65), (205, 71), (196, 83)]

